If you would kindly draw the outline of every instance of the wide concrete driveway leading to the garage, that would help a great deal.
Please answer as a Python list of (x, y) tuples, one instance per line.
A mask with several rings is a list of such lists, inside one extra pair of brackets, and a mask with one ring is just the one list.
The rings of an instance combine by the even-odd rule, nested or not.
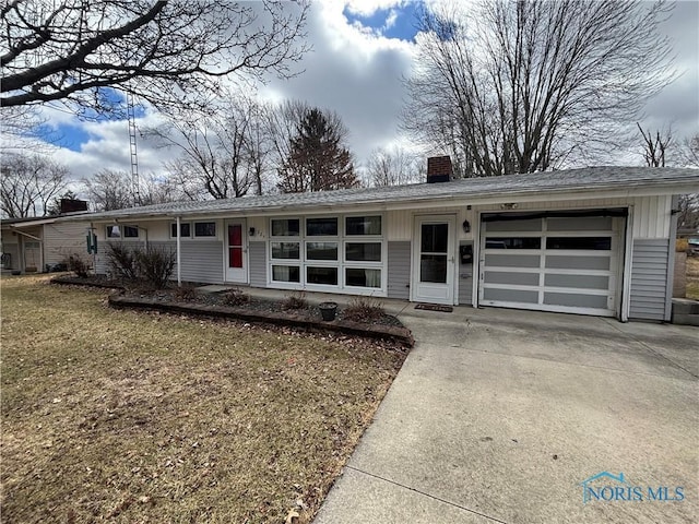
[[(316, 524), (698, 522), (699, 329), (412, 306), (401, 320), (417, 344)], [(583, 503), (602, 472), (626, 484), (603, 476)], [(649, 500), (665, 487), (684, 500)]]

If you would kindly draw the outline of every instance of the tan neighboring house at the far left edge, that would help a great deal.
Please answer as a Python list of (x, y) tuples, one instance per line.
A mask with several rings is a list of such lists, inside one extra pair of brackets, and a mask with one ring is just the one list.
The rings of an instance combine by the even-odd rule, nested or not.
[[(71, 216), (75, 218), (75, 216)], [(42, 273), (70, 254), (87, 257), (86, 223), (64, 222), (66, 216), (0, 221), (2, 270)]]

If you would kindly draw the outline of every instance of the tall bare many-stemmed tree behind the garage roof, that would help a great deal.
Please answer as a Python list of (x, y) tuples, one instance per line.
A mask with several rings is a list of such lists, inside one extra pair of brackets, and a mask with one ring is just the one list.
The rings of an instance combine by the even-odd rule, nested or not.
[(404, 127), (463, 176), (533, 172), (608, 147), (667, 82), (664, 1), (508, 1), (426, 10)]

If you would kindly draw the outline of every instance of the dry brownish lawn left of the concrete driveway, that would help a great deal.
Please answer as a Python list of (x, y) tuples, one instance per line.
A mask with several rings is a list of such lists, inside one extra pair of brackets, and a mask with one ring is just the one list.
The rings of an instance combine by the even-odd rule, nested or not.
[(400, 352), (2, 278), (2, 522), (308, 522)]

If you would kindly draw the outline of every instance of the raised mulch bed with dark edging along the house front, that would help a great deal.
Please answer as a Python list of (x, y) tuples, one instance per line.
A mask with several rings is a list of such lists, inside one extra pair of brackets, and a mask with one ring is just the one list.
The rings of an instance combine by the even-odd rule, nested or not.
[(412, 347), (415, 343), (411, 331), (403, 326), (395, 317), (386, 313), (370, 322), (356, 322), (344, 318), (344, 311), (342, 308), (337, 308), (335, 320), (323, 321), (320, 309), (313, 305), (301, 309), (286, 309), (284, 301), (249, 297), (244, 305), (228, 306), (225, 293), (196, 293), (193, 296), (182, 299), (177, 289), (129, 288), (122, 282), (109, 281), (106, 277), (59, 276), (52, 278), (51, 283), (118, 289), (119, 293), (111, 294), (108, 299), (109, 306), (114, 308), (238, 319), (250, 323), (336, 332), (393, 341), (406, 347)]

